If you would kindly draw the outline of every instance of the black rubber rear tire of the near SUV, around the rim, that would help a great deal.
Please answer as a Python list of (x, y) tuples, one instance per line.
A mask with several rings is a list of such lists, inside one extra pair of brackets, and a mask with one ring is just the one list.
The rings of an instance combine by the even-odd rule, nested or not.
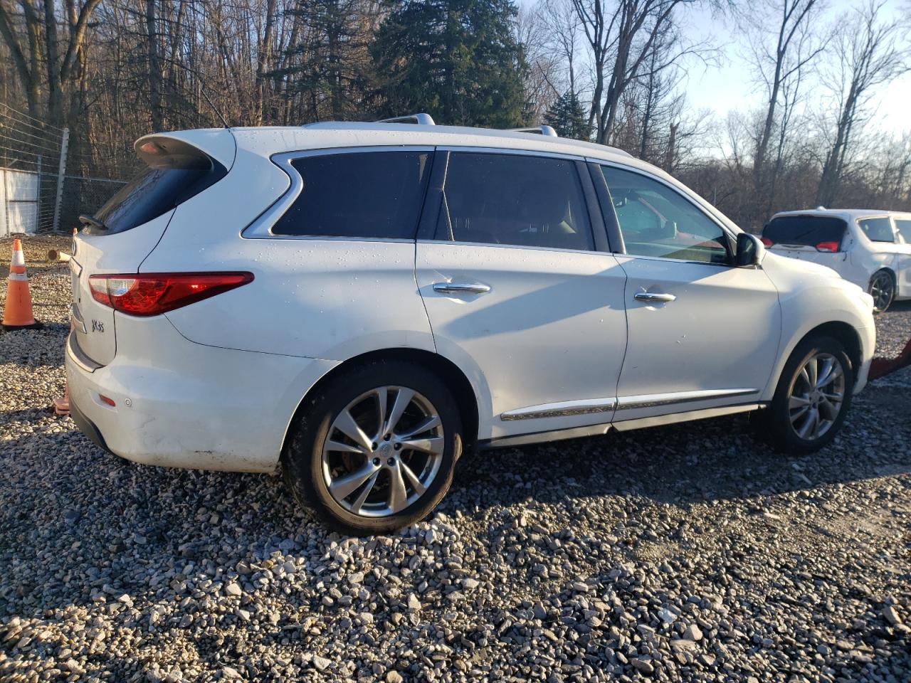
[[(349, 403), (365, 392), (386, 386), (407, 387), (434, 406), (443, 430), (442, 459), (425, 492), (411, 505), (386, 516), (357, 515), (340, 505), (329, 491), (323, 476), (323, 444), (331, 435), (333, 421)], [(415, 363), (375, 361), (333, 377), (317, 395), (306, 399), (286, 440), (281, 469), (295, 500), (333, 530), (345, 535), (387, 534), (423, 519), (442, 500), (452, 484), (461, 448), (461, 414), (445, 384), (433, 372)], [(417, 495), (415, 489), (412, 493)]]

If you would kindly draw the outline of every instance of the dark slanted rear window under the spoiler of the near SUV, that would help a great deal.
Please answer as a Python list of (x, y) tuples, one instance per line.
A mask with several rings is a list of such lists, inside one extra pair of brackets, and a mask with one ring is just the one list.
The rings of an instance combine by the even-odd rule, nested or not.
[(138, 151), (148, 168), (98, 209), (93, 218), (104, 228), (88, 225), (87, 234), (110, 235), (148, 223), (228, 173), (199, 149), (176, 140), (148, 141)]

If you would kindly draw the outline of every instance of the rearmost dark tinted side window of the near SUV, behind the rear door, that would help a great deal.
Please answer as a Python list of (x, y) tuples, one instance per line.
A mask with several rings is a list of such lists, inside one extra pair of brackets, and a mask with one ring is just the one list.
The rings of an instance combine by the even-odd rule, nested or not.
[(414, 239), (430, 156), (353, 152), (294, 159), (303, 189), (272, 233)]

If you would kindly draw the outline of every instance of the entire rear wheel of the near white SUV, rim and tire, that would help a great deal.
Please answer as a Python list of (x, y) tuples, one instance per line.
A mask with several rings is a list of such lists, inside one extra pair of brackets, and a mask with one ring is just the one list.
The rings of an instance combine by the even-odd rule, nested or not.
[(348, 535), (384, 534), (427, 515), (452, 483), (462, 423), (452, 393), (408, 362), (371, 362), (333, 378), (292, 426), (285, 482)]

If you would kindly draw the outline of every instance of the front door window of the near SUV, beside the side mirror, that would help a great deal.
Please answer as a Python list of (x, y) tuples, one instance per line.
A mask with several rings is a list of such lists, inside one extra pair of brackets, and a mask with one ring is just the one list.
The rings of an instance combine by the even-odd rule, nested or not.
[(729, 263), (717, 223), (668, 186), (640, 173), (602, 166), (628, 254)]

